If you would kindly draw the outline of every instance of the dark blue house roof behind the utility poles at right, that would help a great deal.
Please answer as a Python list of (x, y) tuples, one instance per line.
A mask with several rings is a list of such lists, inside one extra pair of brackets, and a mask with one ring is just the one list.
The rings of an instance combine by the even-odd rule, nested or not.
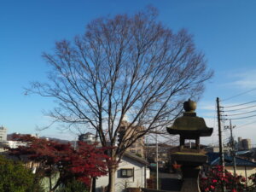
[[(218, 153), (207, 153), (208, 156), (208, 164), (211, 166), (217, 166), (219, 165), (219, 154)], [(225, 166), (234, 166), (233, 157), (224, 154), (224, 164)], [(236, 166), (255, 166), (256, 163), (254, 163), (251, 160), (244, 160), (240, 157), (236, 157)]]

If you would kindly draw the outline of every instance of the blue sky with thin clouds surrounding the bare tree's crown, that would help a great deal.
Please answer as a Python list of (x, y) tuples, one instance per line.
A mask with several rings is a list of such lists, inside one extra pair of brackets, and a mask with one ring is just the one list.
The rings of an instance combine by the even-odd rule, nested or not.
[[(128, 13), (148, 4), (159, 9), (161, 20), (177, 32), (186, 28), (194, 35), (197, 49), (205, 53), (208, 67), (215, 71), (198, 103), (198, 115), (217, 131), (216, 97), (234, 96), (256, 87), (256, 1), (254, 0), (38, 0), (0, 2), (0, 125), (9, 132), (36, 133), (48, 120), (43, 110), (53, 108), (50, 99), (25, 96), (24, 87), (33, 80), (46, 81), (49, 68), (43, 51), (55, 41), (72, 39), (84, 32), (90, 20), (100, 16)], [(253, 101), (256, 90), (226, 100), (223, 105)], [(255, 121), (256, 119), (254, 119)], [(215, 122), (215, 123), (214, 123)], [(248, 137), (256, 144), (256, 123), (239, 127), (253, 119), (235, 121), (236, 137)], [(227, 122), (226, 122), (227, 124)], [(50, 128), (40, 135), (72, 138)], [(228, 133), (225, 132), (225, 137)], [(203, 139), (217, 143), (217, 134)]]

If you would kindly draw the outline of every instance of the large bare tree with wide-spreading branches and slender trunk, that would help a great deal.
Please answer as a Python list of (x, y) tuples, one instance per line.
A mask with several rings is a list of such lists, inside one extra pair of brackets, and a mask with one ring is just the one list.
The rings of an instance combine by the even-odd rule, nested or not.
[[(110, 150), (109, 191), (125, 149), (181, 112), (184, 99), (198, 98), (210, 79), (204, 55), (185, 30), (173, 33), (154, 9), (92, 20), (84, 35), (55, 44), (44, 59), (49, 83), (33, 93), (55, 98), (49, 116), (67, 125), (94, 128)], [(124, 117), (130, 124), (116, 145)], [(142, 127), (143, 129), (138, 129)]]

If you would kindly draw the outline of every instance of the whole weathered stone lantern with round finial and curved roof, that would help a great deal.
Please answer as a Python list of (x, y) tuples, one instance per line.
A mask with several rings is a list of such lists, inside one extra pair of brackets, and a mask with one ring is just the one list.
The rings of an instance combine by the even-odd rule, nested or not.
[[(207, 127), (203, 118), (195, 113), (196, 103), (189, 99), (183, 103), (185, 112), (182, 117), (175, 119), (167, 131), (180, 136), (179, 151), (172, 154), (172, 160), (181, 165), (183, 172), (183, 187), (181, 192), (200, 192), (198, 174), (201, 165), (207, 162), (207, 155), (200, 149), (200, 137), (212, 135), (212, 128)], [(195, 140), (195, 148), (185, 148), (185, 140)]]

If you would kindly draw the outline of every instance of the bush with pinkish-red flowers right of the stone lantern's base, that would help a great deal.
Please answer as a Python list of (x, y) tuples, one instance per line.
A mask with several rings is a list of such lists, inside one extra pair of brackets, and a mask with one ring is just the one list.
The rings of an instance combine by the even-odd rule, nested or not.
[(246, 181), (245, 177), (235, 177), (226, 170), (223, 175), (222, 170), (222, 166), (214, 166), (207, 172), (205, 177), (200, 177), (200, 188), (202, 192), (222, 191), (222, 185), (231, 192), (241, 192), (246, 188), (244, 183)]

